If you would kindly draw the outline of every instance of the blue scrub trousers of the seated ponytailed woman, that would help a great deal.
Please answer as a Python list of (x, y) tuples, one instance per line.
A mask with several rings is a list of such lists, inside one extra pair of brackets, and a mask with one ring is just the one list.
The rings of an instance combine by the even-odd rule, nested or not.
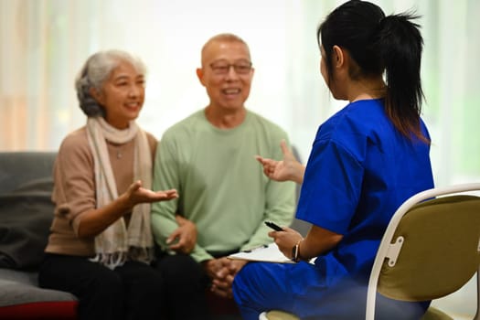
[[(307, 262), (250, 262), (235, 276), (233, 296), (244, 320), (283, 310), (301, 319), (365, 319), (367, 279), (326, 278)], [(377, 319), (420, 319), (430, 302), (405, 303), (377, 295)]]

